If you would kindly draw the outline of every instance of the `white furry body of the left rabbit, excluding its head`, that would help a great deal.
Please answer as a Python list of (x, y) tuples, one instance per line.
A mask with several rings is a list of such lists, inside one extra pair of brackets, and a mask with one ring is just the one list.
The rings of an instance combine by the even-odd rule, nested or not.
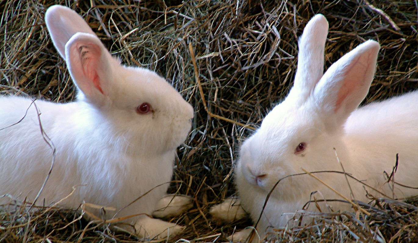
[[(48, 175), (53, 150), (41, 134), (38, 112), (31, 99), (4, 97), (0, 102), (7, 104), (0, 110), (0, 116), (6, 118), (2, 119), (2, 127), (24, 117), (20, 123), (0, 133), (0, 140), (4, 141), (0, 144), (3, 162), (0, 166), (5, 172), (0, 178), (1, 194), (21, 195), (33, 200)], [(146, 140), (139, 148), (130, 148), (124, 141), (126, 137), (114, 136), (123, 130), (112, 129), (107, 119), (92, 114), (87, 103), (58, 104), (43, 100), (34, 103), (40, 113), (42, 129), (56, 149), (53, 169), (38, 204), (57, 202), (78, 185), (62, 205), (77, 208), (85, 200), (122, 208), (155, 186), (166, 183), (138, 201), (140, 207), (131, 205), (132, 210), (126, 210), (126, 213), (138, 213), (137, 208), (143, 208), (144, 213), (153, 211), (155, 200), (164, 195), (167, 182), (171, 180), (174, 150), (153, 155), (148, 152)]]

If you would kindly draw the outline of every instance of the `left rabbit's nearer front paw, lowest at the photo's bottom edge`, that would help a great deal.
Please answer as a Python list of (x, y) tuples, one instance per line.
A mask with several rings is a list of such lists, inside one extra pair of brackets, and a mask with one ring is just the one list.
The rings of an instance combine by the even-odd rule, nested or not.
[(171, 238), (181, 231), (185, 226), (176, 225), (157, 218), (143, 216), (135, 224), (135, 232), (138, 236), (149, 239)]

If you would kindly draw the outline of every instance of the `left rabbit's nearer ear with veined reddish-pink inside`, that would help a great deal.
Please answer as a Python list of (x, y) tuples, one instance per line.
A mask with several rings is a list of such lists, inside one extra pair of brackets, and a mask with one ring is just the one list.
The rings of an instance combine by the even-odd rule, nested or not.
[(120, 64), (96, 35), (87, 33), (73, 35), (65, 55), (74, 83), (90, 102), (101, 105), (111, 90), (112, 67)]

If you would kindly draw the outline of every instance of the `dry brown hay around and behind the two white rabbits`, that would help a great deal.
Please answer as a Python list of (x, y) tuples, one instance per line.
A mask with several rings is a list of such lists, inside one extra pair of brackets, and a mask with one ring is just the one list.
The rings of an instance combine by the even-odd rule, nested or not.
[[(43, 21), (48, 6), (66, 3), (0, 2), (1, 95), (26, 93), (55, 102), (73, 99), (66, 65)], [(188, 226), (179, 236), (187, 240), (219, 242), (235, 225), (250, 225), (248, 221), (217, 225), (207, 211), (234, 193), (231, 171), (236, 150), (288, 93), (296, 70), (297, 38), (314, 14), (322, 13), (329, 20), (326, 67), (365, 40), (382, 45), (366, 103), (418, 88), (416, 0), (79, 0), (70, 7), (122, 63), (155, 70), (194, 106), (194, 127), (178, 149), (173, 178), (189, 187), (178, 189), (173, 183), (170, 188), (196, 201), (194, 210), (175, 219)], [(375, 241), (380, 233), (387, 242), (418, 240), (417, 208), (389, 203), (370, 211), (365, 223), (361, 217), (344, 214), (335, 222), (323, 220), (318, 226), (279, 231), (278, 242)], [(138, 240), (78, 220), (72, 210), (26, 212), (15, 207), (1, 212), (0, 241), (4, 242)]]

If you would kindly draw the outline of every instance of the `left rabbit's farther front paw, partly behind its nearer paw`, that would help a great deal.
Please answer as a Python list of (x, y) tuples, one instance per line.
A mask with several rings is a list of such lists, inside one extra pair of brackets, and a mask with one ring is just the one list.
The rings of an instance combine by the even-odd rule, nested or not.
[(184, 195), (168, 195), (161, 198), (153, 212), (155, 218), (168, 218), (185, 213), (193, 206), (192, 198)]

